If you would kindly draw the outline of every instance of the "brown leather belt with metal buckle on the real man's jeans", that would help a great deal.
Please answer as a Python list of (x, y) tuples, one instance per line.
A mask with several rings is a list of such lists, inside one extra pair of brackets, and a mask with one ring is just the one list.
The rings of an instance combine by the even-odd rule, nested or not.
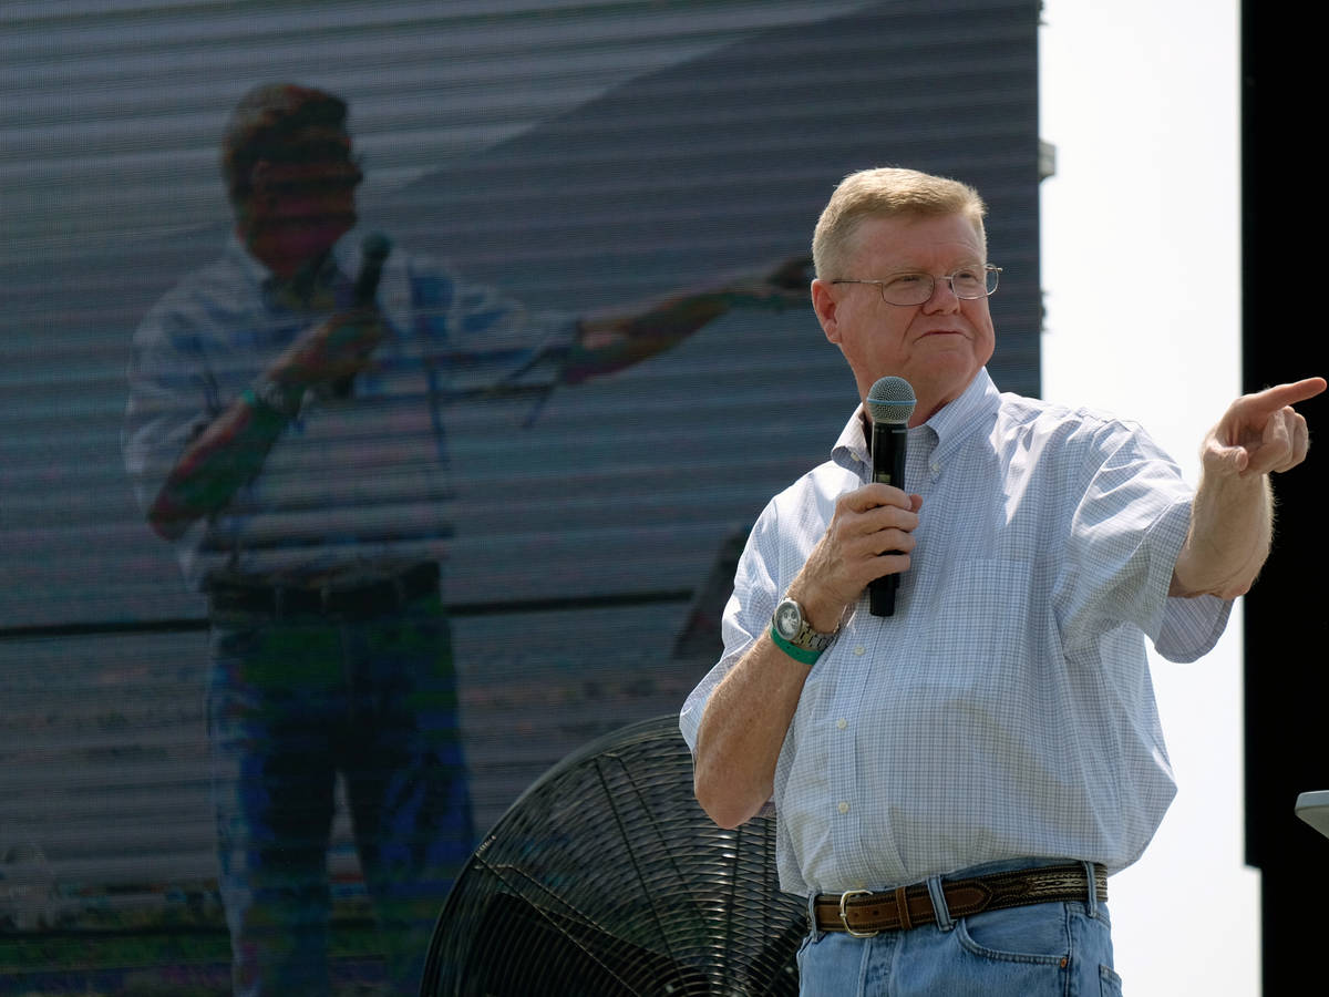
[[(952, 917), (968, 917), (1007, 907), (1088, 900), (1088, 876), (1082, 864), (1045, 865), (974, 879), (944, 880), (941, 892)], [(1099, 903), (1107, 903), (1107, 872), (1102, 865), (1094, 867), (1094, 893)], [(849, 932), (855, 937), (909, 931), (937, 923), (926, 883), (885, 893), (873, 893), (870, 889), (819, 893), (812, 911), (817, 931)]]

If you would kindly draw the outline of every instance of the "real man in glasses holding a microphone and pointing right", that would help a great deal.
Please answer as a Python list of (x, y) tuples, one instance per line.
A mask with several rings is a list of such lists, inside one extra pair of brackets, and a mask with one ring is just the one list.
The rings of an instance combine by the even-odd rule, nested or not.
[(1232, 403), (1192, 492), (1139, 427), (997, 391), (983, 215), (913, 170), (836, 189), (813, 307), (860, 401), (912, 387), (904, 481), (873, 479), (860, 407), (754, 526), (682, 711), (716, 823), (775, 803), (805, 997), (1119, 989), (1106, 879), (1175, 792), (1144, 637), (1170, 661), (1217, 641), (1269, 549), (1269, 475), (1306, 455), (1292, 405), (1325, 388)]

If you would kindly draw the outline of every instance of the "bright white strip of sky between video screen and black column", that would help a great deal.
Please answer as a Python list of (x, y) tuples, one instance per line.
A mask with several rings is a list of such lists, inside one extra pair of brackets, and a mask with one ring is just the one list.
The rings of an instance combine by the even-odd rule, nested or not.
[[(1138, 419), (1193, 483), (1205, 429), (1240, 392), (1239, 7), (1047, 0), (1043, 21), (1041, 134), (1057, 146), (1042, 189), (1043, 395)], [(1110, 884), (1124, 992), (1259, 994), (1240, 601), (1205, 658), (1151, 662), (1180, 788), (1144, 857)]]

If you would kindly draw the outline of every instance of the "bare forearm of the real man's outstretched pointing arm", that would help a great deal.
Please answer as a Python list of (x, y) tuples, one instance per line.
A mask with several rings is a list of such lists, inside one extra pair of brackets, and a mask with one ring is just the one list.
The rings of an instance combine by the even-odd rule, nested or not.
[(1268, 475), (1205, 473), (1172, 570), (1174, 596), (1245, 594), (1269, 556), (1273, 491)]

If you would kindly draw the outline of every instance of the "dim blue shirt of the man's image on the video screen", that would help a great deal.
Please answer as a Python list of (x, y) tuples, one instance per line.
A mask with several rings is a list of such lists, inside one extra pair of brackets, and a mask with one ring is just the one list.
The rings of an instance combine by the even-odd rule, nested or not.
[[(181, 452), (311, 326), (350, 307), (356, 239), (338, 243), (323, 300), (300, 306), (230, 238), (141, 323), (129, 363), (125, 465), (144, 509)], [(392, 253), (377, 303), (385, 324), (355, 397), (306, 395), (263, 471), (177, 541), (187, 582), (217, 570), (372, 577), (379, 565), (439, 561), (452, 536), (449, 405), (514, 397), (530, 407), (561, 380), (577, 322), (530, 312), (439, 261)]]

